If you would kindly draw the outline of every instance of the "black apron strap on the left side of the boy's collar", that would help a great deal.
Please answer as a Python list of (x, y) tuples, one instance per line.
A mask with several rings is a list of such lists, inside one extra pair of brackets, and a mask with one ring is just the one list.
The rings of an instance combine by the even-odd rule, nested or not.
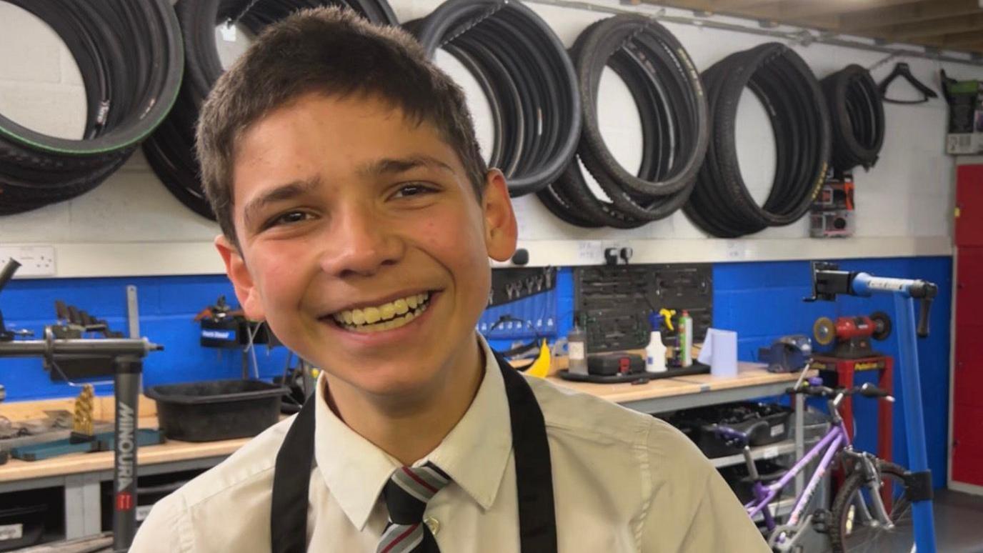
[(273, 553), (307, 551), (308, 490), (314, 464), (314, 411), (317, 394), (312, 395), (276, 454), (273, 469), (273, 500), (269, 518), (270, 550)]

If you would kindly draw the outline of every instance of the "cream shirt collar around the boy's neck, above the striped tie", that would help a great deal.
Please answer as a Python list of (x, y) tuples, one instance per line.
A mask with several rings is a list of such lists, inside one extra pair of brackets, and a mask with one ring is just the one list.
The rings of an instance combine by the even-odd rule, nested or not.
[[(512, 427), (505, 384), (492, 348), (481, 335), (485, 376), (461, 420), (419, 466), (432, 461), (483, 509), (489, 509), (512, 452)], [(318, 378), (315, 405), (315, 460), (331, 495), (360, 531), (382, 486), (400, 462), (342, 422), (324, 400), (325, 375)]]

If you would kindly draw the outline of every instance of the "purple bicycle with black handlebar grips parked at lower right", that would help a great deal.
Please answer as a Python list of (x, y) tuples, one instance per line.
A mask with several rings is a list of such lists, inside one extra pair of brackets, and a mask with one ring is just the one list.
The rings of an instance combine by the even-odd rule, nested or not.
[[(830, 537), (833, 551), (912, 551), (913, 524), (911, 503), (907, 499), (910, 479), (901, 466), (878, 459), (876, 456), (853, 449), (849, 435), (839, 414), (839, 403), (847, 396), (895, 399), (885, 390), (870, 384), (851, 389), (831, 389), (821, 386), (819, 379), (787, 390), (789, 394), (803, 394), (828, 400), (832, 424), (826, 435), (803, 458), (777, 481), (766, 482), (755, 467), (750, 444), (759, 432), (768, 433), (768, 423), (762, 421), (745, 431), (718, 426), (717, 435), (732, 447), (742, 447), (744, 461), (750, 474), (754, 500), (744, 506), (752, 518), (761, 514), (765, 520), (768, 543), (774, 551), (803, 551), (803, 537), (810, 528)], [(808, 484), (795, 500), (795, 506), (782, 524), (776, 522), (771, 504), (781, 490), (806, 466), (822, 455), (821, 461)], [(837, 492), (832, 508), (812, 508), (810, 501), (823, 476), (835, 462), (841, 463), (845, 477)], [(808, 512), (807, 512), (808, 511)]]

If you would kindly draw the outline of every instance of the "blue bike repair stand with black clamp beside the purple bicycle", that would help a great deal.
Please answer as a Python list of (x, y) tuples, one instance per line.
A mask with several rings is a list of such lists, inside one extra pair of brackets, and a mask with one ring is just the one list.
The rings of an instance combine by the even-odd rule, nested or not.
[(922, 412), (921, 381), (918, 369), (918, 347), (915, 338), (914, 300), (921, 300), (918, 316), (918, 338), (928, 336), (929, 309), (939, 287), (925, 280), (886, 278), (866, 273), (838, 271), (834, 263), (812, 263), (812, 297), (833, 301), (837, 294), (870, 297), (874, 293), (895, 296), (895, 318), (899, 355), (897, 366), (901, 376), (904, 398), (904, 423), (908, 433), (908, 469), (905, 473), (907, 492), (911, 500), (915, 547), (918, 553), (935, 553), (935, 525), (932, 519), (932, 472), (928, 468), (925, 449), (925, 419)]

